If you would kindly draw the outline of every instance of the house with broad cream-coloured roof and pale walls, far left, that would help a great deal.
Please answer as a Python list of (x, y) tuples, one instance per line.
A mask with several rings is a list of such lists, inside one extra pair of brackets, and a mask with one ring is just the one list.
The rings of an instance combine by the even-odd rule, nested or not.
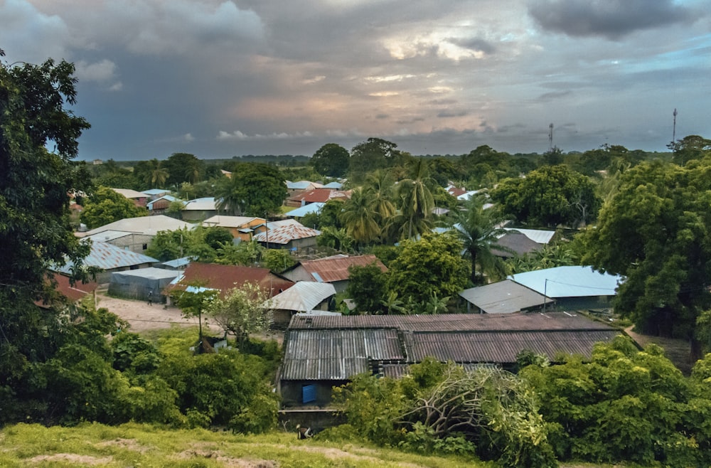
[(78, 234), (93, 242), (105, 242), (119, 248), (129, 249), (132, 252), (143, 253), (159, 232), (193, 228), (192, 224), (185, 221), (170, 216), (157, 215), (124, 218)]

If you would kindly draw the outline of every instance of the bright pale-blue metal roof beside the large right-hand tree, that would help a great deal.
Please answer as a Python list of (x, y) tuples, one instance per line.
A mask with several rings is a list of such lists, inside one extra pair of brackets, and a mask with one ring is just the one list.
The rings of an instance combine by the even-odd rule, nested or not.
[(600, 273), (592, 267), (555, 267), (547, 270), (517, 273), (510, 280), (523, 284), (546, 297), (594, 297), (614, 296), (618, 275)]

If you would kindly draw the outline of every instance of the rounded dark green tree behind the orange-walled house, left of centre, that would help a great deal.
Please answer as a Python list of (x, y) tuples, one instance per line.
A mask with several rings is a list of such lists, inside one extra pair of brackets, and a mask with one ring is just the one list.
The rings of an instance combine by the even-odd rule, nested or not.
[(237, 164), (232, 178), (219, 187), (218, 208), (240, 216), (279, 213), (287, 198), (287, 183), (276, 166)]

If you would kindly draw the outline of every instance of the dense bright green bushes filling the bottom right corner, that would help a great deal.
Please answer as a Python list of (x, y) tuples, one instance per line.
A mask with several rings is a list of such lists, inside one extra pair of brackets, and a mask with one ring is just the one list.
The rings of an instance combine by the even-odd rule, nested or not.
[[(541, 414), (560, 459), (707, 466), (707, 396), (657, 346), (638, 351), (619, 336), (594, 347), (592, 361), (520, 372), (540, 392)], [(701, 412), (701, 413), (700, 413)]]

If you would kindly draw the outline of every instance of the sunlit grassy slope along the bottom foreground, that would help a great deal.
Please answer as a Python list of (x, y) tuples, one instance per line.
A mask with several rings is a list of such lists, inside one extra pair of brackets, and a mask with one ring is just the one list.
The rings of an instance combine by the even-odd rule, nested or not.
[(297, 440), (287, 432), (232, 435), (134, 423), (77, 427), (18, 424), (0, 431), (2, 467), (493, 467), (368, 445)]

